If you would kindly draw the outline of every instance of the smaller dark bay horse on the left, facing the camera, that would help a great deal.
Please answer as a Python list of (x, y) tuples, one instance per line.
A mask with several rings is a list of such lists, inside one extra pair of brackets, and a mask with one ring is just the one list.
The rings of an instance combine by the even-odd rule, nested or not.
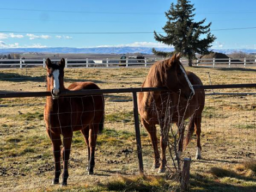
[[(62, 58), (58, 64), (51, 63), (48, 58), (47, 66), (47, 91), (52, 96), (47, 96), (44, 109), (46, 132), (52, 142), (54, 156), (54, 179), (53, 184), (59, 183), (60, 157), (63, 160), (62, 185), (68, 180), (68, 161), (74, 131), (80, 131), (88, 148), (88, 175), (93, 174), (95, 165), (95, 146), (97, 133), (103, 129), (104, 121), (104, 98), (103, 95), (92, 96), (60, 96), (62, 91), (75, 91), (84, 89), (100, 89), (93, 82), (75, 82), (64, 86), (65, 60)], [(60, 135), (63, 135), (63, 147)]]

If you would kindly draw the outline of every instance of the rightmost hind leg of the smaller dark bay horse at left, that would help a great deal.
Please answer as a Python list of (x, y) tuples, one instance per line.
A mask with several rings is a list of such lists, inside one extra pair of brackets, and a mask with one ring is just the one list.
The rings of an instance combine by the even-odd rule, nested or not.
[(97, 132), (99, 131), (99, 124), (92, 124), (89, 126), (89, 164), (88, 164), (88, 175), (93, 175), (93, 169), (95, 165), (95, 147), (97, 140)]

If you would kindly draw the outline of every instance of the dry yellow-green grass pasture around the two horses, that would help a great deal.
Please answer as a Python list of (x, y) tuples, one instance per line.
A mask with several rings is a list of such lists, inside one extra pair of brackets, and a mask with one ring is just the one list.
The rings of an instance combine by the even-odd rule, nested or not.
[[(256, 68), (185, 67), (204, 85), (255, 83)], [(138, 88), (149, 68), (65, 69), (65, 86), (93, 81), (101, 89)], [(46, 69), (0, 69), (0, 92), (45, 91)], [(215, 90), (256, 92), (253, 89)], [(211, 90), (206, 90), (210, 93)], [(45, 98), (0, 98), (0, 191), (171, 191), (177, 182), (151, 170), (153, 148), (141, 127), (146, 176), (138, 174), (131, 94), (105, 95), (105, 129), (98, 136), (95, 175), (88, 176), (87, 149), (80, 132), (72, 140), (68, 187), (52, 186), (53, 155), (45, 132)], [(256, 191), (256, 96), (206, 96), (202, 157), (196, 137), (183, 157), (192, 157), (191, 191)], [(254, 162), (253, 162), (254, 160)], [(169, 162), (172, 165), (172, 162)]]

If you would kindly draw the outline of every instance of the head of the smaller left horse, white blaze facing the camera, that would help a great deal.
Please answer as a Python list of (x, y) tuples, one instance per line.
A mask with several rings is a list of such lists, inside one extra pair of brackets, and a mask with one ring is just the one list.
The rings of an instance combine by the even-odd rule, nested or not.
[(62, 58), (58, 64), (53, 64), (48, 58), (46, 60), (47, 66), (47, 90), (51, 91), (52, 98), (59, 98), (60, 92), (64, 88), (64, 67), (65, 59)]

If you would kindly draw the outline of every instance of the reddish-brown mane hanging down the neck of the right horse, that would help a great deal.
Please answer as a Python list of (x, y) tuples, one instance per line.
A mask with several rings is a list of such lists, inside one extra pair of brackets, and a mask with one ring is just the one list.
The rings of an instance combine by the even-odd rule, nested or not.
[(157, 61), (151, 66), (144, 84), (148, 87), (164, 86), (167, 77), (167, 70), (172, 66), (172, 59)]

